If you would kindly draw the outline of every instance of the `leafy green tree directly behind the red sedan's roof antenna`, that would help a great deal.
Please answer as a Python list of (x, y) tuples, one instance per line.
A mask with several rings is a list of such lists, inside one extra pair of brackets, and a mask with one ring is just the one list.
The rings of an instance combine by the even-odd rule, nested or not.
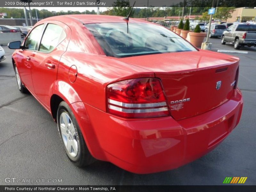
[[(108, 15), (127, 16), (132, 9), (129, 0), (116, 0), (113, 7), (108, 7)], [(132, 13), (131, 13), (132, 14)]]

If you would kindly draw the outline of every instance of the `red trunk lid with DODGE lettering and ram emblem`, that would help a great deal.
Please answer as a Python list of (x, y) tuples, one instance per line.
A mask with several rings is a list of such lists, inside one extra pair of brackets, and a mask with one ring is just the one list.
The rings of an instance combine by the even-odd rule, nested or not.
[[(126, 57), (125, 63), (146, 68), (160, 78), (176, 120), (216, 108), (232, 96), (239, 59), (210, 51)], [(221, 81), (218, 83), (217, 82)], [(217, 89), (217, 88), (219, 89)]]

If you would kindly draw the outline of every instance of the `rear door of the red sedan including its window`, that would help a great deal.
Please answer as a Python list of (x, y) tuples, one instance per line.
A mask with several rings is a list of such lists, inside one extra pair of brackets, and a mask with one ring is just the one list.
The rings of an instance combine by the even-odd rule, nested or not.
[(31, 74), (37, 99), (50, 109), (52, 86), (57, 80), (60, 57), (67, 50), (71, 29), (59, 21), (47, 21), (45, 25), (38, 51), (31, 59)]

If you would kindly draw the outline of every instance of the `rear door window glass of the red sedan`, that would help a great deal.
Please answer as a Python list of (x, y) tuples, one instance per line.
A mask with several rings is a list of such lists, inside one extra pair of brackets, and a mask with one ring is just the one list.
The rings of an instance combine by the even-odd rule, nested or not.
[(39, 51), (52, 52), (65, 38), (67, 34), (59, 25), (48, 24), (40, 44)]

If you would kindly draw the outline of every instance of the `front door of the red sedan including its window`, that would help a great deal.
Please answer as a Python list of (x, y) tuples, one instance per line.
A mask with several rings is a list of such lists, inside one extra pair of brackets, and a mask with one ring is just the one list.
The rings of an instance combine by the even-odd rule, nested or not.
[(31, 58), (38, 47), (43, 28), (44, 24), (36, 26), (25, 39), (22, 49), (19, 49), (16, 54), (16, 65), (21, 81), (32, 93), (34, 92), (34, 86), (31, 78)]

